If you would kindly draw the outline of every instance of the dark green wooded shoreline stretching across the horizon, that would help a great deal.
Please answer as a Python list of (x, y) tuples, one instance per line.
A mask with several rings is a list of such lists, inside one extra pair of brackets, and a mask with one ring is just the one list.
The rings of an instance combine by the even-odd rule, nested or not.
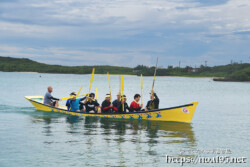
[[(118, 66), (61, 66), (39, 63), (26, 58), (0, 57), (0, 71), (4, 72), (39, 72), (39, 73), (66, 73), (90, 74), (95, 67), (96, 74), (127, 74), (153, 76), (154, 67), (138, 65), (135, 68)], [(185, 77), (222, 77), (225, 81), (250, 81), (250, 64), (228, 64), (223, 66), (199, 68), (173, 67), (157, 69), (157, 76), (185, 76)]]

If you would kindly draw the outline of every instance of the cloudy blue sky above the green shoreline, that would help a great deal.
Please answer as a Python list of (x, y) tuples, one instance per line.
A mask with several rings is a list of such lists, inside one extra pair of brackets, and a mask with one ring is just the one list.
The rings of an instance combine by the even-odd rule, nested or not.
[(0, 56), (47, 64), (250, 62), (249, 0), (0, 0)]

